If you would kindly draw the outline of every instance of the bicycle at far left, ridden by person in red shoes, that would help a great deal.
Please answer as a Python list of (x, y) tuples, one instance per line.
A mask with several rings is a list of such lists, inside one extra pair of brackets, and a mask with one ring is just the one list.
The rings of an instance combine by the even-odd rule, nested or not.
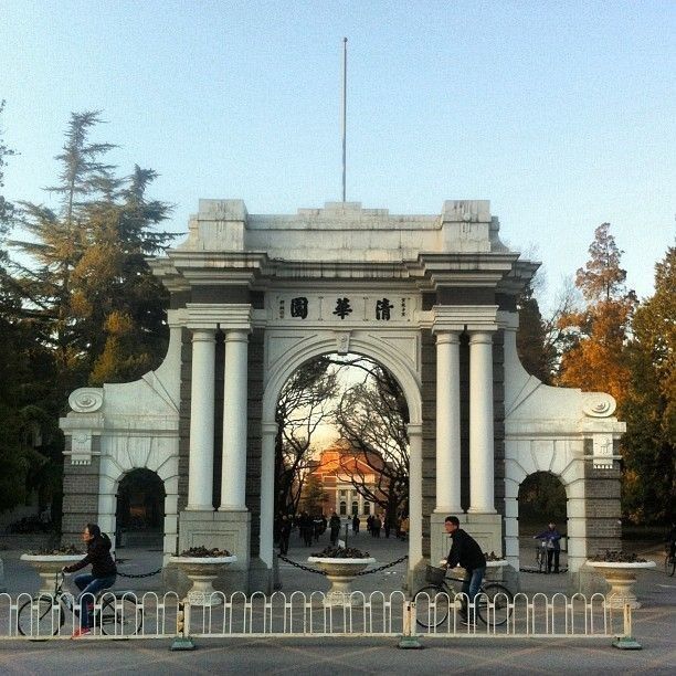
[[(17, 629), (22, 636), (56, 636), (72, 617), (73, 626), (78, 624), (80, 610), (73, 594), (63, 590), (65, 575), (54, 575), (54, 593), (29, 599), (17, 612)], [(98, 605), (101, 600), (103, 603)], [(136, 605), (129, 591), (102, 590), (96, 594), (93, 627), (101, 627), (107, 636), (130, 636), (140, 632), (144, 612)]]

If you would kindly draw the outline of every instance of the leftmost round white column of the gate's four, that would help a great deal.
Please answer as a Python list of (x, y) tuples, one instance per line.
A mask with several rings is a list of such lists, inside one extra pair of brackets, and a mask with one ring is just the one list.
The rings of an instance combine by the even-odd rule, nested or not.
[(188, 507), (213, 511), (214, 329), (192, 331)]

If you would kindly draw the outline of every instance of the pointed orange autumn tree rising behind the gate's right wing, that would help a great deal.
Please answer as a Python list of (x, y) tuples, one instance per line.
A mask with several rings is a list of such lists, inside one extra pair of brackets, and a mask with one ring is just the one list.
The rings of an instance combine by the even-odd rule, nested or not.
[(568, 335), (561, 356), (558, 384), (601, 391), (621, 403), (630, 382), (624, 350), (636, 295), (627, 291), (622, 251), (610, 234), (610, 223), (596, 228), (590, 258), (578, 270), (575, 286), (584, 308), (564, 314), (559, 327)]

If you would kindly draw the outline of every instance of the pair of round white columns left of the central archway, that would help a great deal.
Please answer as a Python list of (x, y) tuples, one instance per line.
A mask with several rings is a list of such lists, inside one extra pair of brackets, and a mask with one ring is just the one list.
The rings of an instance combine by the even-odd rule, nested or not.
[[(188, 510), (213, 510), (215, 328), (192, 331)], [(223, 455), (219, 511), (245, 510), (249, 332), (225, 330)]]

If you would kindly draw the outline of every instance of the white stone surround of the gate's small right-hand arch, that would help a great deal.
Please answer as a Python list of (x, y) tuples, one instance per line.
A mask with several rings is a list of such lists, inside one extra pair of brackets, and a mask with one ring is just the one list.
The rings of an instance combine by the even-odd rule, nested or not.
[[(518, 570), (519, 487), (538, 472), (556, 476), (566, 490), (568, 568), (575, 572), (587, 558), (584, 520), (584, 464), (582, 439), (538, 439), (507, 443), (505, 460), (505, 551)], [(546, 518), (546, 517), (545, 517)]]

